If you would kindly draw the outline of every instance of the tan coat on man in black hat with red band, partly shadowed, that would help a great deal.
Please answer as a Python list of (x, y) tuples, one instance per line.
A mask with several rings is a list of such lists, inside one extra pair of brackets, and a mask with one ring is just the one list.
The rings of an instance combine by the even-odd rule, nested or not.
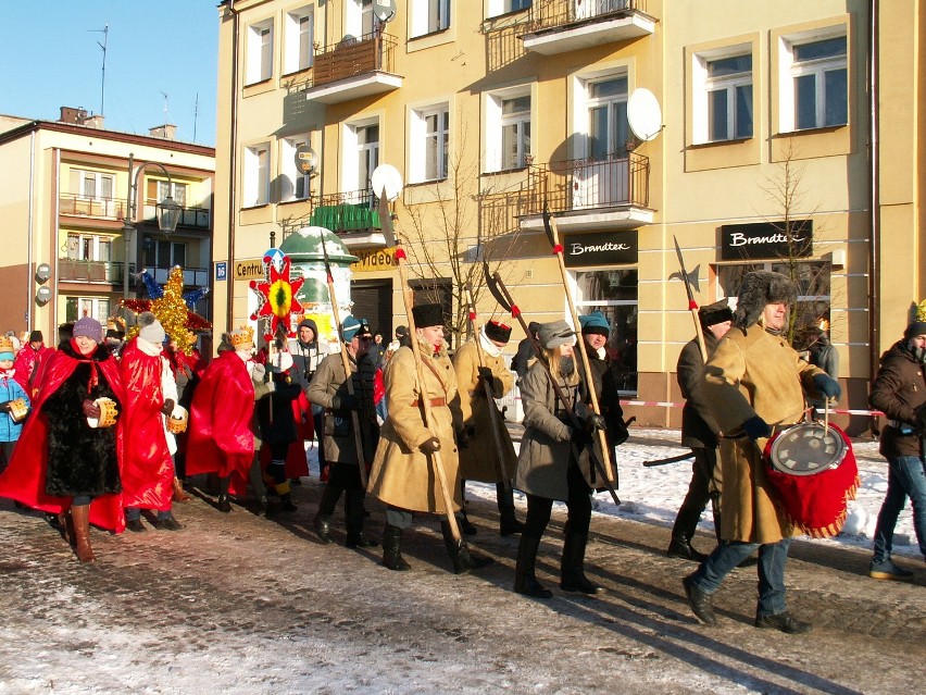
[[(483, 361), (485, 367), (492, 370), (495, 376), (492, 397), (501, 398), (514, 386), (514, 376), (505, 367), (504, 358), (501, 356), (492, 357), (483, 351)], [(514, 454), (511, 435), (504, 426), (495, 400), (489, 402), (486, 397), (486, 388), (479, 380), (479, 355), (475, 343), (466, 343), (456, 350), (453, 356), (453, 370), (456, 372), (456, 384), (460, 389), (463, 426), (473, 430), (468, 446), (460, 449), (460, 476), (485, 483), (500, 483), (502, 475), (493, 426), (498, 426), (501, 435), (502, 460), (509, 477), (514, 475), (517, 456)]]

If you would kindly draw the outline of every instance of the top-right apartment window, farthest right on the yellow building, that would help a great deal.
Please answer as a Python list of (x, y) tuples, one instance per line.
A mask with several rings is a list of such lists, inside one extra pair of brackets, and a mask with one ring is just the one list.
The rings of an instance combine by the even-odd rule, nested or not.
[(783, 132), (849, 123), (847, 50), (844, 27), (833, 29), (830, 36), (816, 33), (783, 39)]

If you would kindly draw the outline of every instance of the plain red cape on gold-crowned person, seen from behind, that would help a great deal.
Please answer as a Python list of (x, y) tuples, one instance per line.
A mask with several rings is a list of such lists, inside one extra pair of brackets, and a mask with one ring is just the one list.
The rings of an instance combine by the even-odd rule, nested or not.
[(254, 456), (254, 384), (234, 350), (212, 360), (190, 406), (187, 475), (232, 476), (232, 492), (247, 486)]

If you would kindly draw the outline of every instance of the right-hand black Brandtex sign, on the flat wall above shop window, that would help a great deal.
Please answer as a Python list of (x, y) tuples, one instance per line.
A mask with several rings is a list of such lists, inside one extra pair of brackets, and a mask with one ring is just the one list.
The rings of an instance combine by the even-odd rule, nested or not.
[(790, 248), (784, 222), (721, 225), (721, 259), (809, 258), (813, 255), (813, 220), (791, 222)]

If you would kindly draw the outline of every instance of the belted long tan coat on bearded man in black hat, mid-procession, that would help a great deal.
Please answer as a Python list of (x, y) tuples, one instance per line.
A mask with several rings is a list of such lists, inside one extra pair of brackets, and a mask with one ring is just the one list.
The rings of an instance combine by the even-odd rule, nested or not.
[(373, 460), (367, 491), (392, 507), (446, 514), (443, 497), (437, 487), (434, 457), (422, 452), (418, 446), (431, 436), (440, 439), (439, 459), (451, 488), (453, 510), (460, 510), (454, 433), (462, 426), (462, 413), (456, 394), (456, 376), (443, 348), (438, 355), (431, 356), (430, 345), (418, 340), (418, 346), (426, 363), (422, 369), (426, 397), (430, 401), (442, 400), (446, 405), (431, 406), (431, 426), (425, 427), (418, 405), (415, 357), (411, 348), (399, 348), (383, 375), (388, 415), (379, 431), (379, 446)]

